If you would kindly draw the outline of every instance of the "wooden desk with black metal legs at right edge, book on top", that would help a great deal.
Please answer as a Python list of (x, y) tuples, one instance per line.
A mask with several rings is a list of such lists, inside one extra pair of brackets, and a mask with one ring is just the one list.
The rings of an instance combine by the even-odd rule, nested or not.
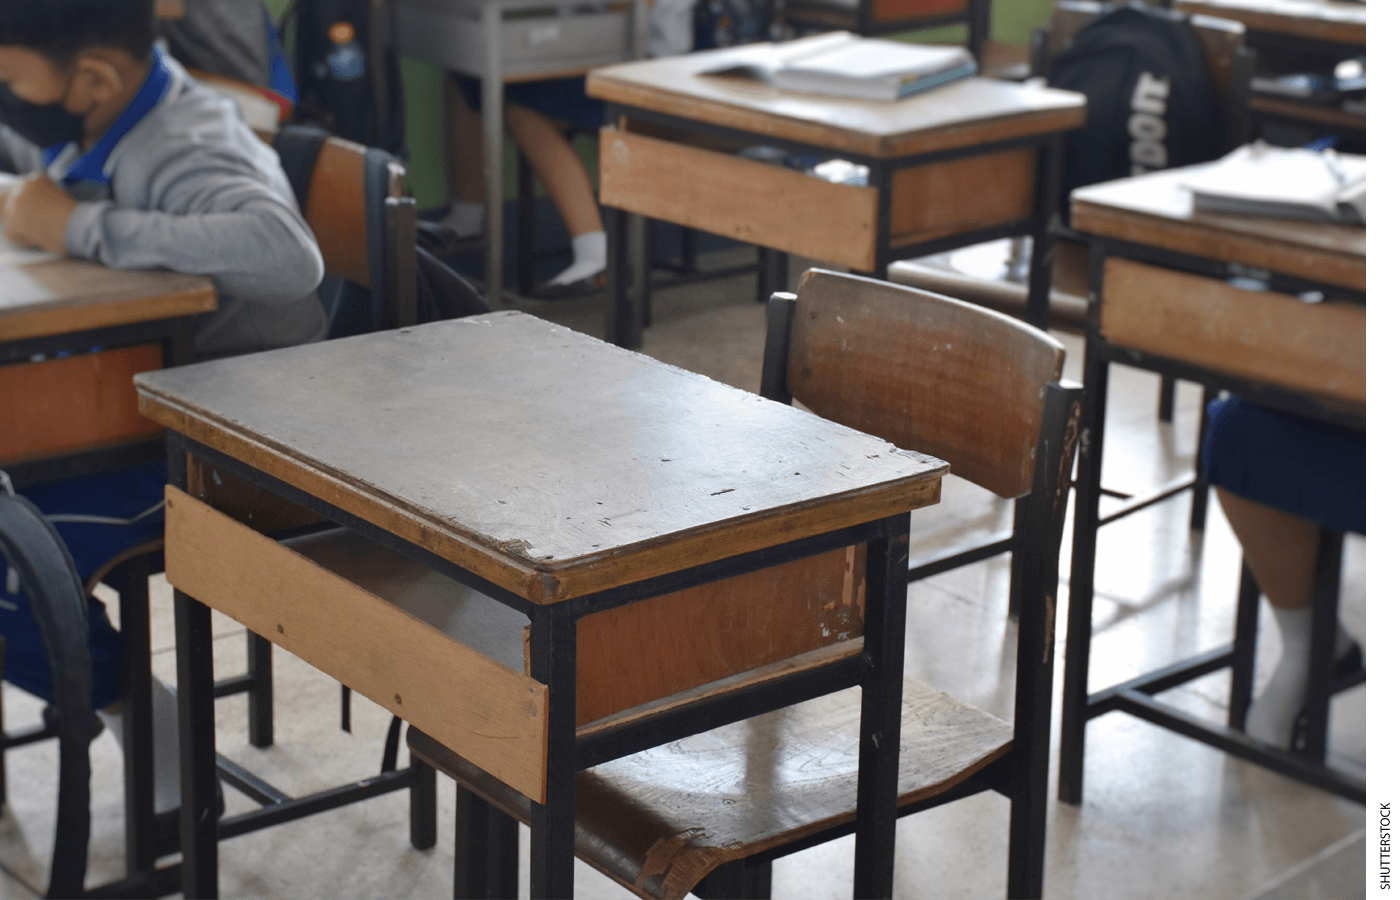
[[(1091, 249), (1060, 799), (1081, 799), (1088, 721), (1117, 710), (1365, 802), (1365, 785), (1352, 777), (1266, 747), (1240, 731), (1152, 697), (1235, 666), (1245, 656), (1238, 658), (1233, 645), (1088, 693), (1109, 363), (1226, 389), (1253, 403), (1320, 421), (1359, 430), (1366, 423), (1366, 230), (1194, 213), (1191, 195), (1180, 183), (1190, 171), (1105, 182), (1071, 195), (1074, 227), (1089, 235)], [(1249, 287), (1263, 283), (1267, 290), (1246, 290), (1232, 279), (1249, 279)], [(1317, 302), (1305, 302), (1299, 295)], [(1207, 392), (1205, 399), (1210, 396)], [(1197, 481), (1201, 479), (1197, 460)], [(1252, 670), (1253, 644), (1242, 652)], [(1231, 719), (1238, 726), (1252, 687), (1235, 686)]]

